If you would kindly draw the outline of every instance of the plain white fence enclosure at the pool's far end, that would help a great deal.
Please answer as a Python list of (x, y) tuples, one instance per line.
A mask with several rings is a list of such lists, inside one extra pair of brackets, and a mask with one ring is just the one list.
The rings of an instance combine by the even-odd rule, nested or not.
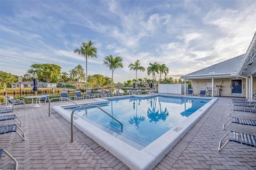
[[(186, 84), (188, 91), (188, 84)], [(158, 84), (158, 92), (162, 94), (184, 94), (184, 84)]]

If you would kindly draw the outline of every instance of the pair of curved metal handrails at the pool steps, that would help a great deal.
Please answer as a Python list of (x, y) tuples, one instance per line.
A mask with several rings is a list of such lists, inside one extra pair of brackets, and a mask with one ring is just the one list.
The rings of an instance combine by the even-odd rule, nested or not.
[[(71, 121), (70, 121), (70, 123), (71, 123), (71, 128), (70, 128), (70, 130), (71, 130), (71, 142), (74, 141), (74, 135), (73, 135), (73, 124), (74, 124), (74, 121), (73, 121), (74, 118), (73, 118), (73, 117), (74, 117), (74, 113), (75, 113), (78, 109), (85, 109), (86, 107), (98, 107), (102, 112), (106, 113), (108, 116), (110, 116), (111, 118), (113, 118), (117, 123), (121, 124), (121, 132), (123, 132), (123, 124), (122, 124), (120, 121), (118, 121), (114, 116), (110, 115), (107, 111), (105, 111), (104, 109), (102, 109), (100, 106), (98, 106), (98, 105), (88, 105), (88, 104), (85, 104), (84, 106), (81, 106), (81, 105), (75, 103), (75, 101), (70, 100), (70, 99), (67, 98), (67, 97), (55, 97), (55, 98), (51, 98), (51, 99), (49, 100), (49, 117), (51, 116), (51, 112), (50, 112), (50, 110), (51, 110), (51, 101), (52, 101), (53, 99), (67, 99), (67, 100), (71, 101), (72, 103), (74, 103), (75, 105), (78, 106), (78, 107), (75, 108), (75, 109), (72, 111), (72, 113), (71, 113)], [(85, 109), (85, 111), (86, 111), (86, 109)]]

